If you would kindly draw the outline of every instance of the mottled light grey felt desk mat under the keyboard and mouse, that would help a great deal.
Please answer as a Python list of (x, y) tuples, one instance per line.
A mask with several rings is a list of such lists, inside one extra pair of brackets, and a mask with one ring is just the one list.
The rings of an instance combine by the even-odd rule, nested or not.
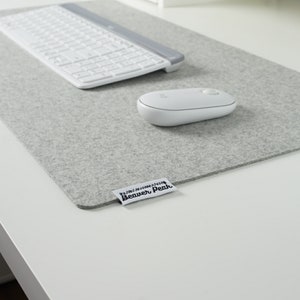
[[(299, 73), (118, 2), (80, 5), (186, 61), (174, 73), (82, 91), (0, 34), (0, 117), (78, 207), (109, 204), (112, 190), (135, 183), (183, 183), (300, 148)], [(224, 90), (238, 107), (174, 128), (138, 115), (140, 95), (188, 87)]]

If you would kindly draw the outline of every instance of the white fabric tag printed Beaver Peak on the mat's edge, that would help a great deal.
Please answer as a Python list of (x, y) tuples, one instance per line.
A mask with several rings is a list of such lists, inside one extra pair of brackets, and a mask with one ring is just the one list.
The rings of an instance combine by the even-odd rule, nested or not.
[(126, 205), (174, 191), (176, 187), (167, 178), (161, 178), (114, 190), (113, 193), (123, 205)]

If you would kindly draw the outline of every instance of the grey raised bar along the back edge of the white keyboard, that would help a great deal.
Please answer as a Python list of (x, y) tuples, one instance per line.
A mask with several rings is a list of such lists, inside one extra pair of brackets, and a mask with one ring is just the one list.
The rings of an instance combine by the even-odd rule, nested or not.
[(127, 28), (122, 27), (114, 22), (111, 22), (110, 20), (107, 20), (103, 17), (100, 17), (99, 15), (94, 14), (74, 3), (61, 4), (60, 6), (89, 21), (92, 21), (93, 23), (106, 27), (109, 31), (119, 34), (127, 38), (129, 41), (132, 41), (162, 56), (163, 58), (169, 60), (171, 65), (179, 64), (184, 60), (184, 55), (182, 53), (175, 51), (171, 48), (168, 48), (166, 46), (163, 46), (157, 42), (154, 42), (142, 35), (139, 35), (138, 33), (130, 31)]

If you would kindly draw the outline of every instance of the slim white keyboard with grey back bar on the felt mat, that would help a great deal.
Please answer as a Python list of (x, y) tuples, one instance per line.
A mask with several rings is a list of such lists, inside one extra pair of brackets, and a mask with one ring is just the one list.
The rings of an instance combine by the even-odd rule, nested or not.
[(74, 4), (0, 18), (0, 30), (81, 89), (173, 71), (183, 60), (179, 52)]

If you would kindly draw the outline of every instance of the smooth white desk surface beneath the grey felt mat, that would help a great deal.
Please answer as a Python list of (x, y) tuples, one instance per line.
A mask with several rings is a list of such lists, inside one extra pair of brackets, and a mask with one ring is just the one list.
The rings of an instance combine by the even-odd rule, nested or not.
[[(122, 2), (300, 71), (292, 1)], [(0, 252), (30, 299), (300, 298), (299, 152), (83, 211), (2, 123), (0, 145)]]

